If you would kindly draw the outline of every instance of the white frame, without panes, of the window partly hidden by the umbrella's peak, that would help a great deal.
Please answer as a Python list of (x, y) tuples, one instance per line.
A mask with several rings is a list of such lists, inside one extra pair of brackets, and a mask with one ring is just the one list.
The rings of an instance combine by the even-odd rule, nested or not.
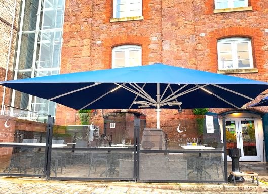
[(137, 45), (123, 45), (123, 46), (117, 46), (112, 49), (112, 65), (111, 68), (120, 68), (116, 66), (116, 52), (117, 51), (124, 51), (125, 52), (125, 66), (124, 67), (130, 67), (129, 65), (129, 52), (133, 50), (139, 51), (139, 64), (137, 66), (141, 66), (142, 62), (142, 49), (141, 46)]

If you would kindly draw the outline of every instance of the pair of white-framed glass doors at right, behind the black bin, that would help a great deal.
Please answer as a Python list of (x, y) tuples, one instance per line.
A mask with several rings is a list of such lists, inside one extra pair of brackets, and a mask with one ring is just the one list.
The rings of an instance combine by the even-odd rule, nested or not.
[(241, 149), (241, 161), (260, 161), (257, 119), (226, 119), (227, 160), (231, 161), (229, 148)]

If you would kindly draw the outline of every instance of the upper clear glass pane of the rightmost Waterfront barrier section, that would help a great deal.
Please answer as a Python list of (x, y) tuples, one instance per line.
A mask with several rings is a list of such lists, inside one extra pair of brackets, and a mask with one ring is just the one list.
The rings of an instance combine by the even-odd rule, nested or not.
[(195, 118), (177, 120), (176, 123), (163, 129), (142, 130), (140, 149), (223, 151), (218, 115), (195, 115)]

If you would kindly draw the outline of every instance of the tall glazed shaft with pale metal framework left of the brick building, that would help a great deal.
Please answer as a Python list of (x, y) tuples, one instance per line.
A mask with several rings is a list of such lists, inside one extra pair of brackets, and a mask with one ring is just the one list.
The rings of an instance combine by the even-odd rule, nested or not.
[[(59, 74), (65, 0), (27, 0), (21, 4), (23, 28), (16, 45), (14, 80)], [(11, 106), (33, 111), (29, 120), (46, 122), (47, 115), (56, 115), (55, 102), (15, 90), (12, 95)]]

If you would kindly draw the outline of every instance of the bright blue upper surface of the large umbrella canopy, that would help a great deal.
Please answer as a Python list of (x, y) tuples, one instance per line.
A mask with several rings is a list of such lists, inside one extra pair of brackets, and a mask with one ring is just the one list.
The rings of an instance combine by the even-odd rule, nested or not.
[(265, 84), (206, 71), (175, 67), (164, 64), (144, 65), (128, 68), (104, 69), (77, 73), (19, 79), (7, 83), (170, 83), (170, 84)]

